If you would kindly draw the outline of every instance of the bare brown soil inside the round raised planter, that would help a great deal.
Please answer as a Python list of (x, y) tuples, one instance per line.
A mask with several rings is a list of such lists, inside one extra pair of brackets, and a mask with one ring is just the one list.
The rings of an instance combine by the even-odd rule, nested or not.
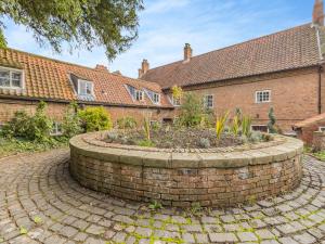
[[(265, 141), (262, 134), (261, 139)], [(127, 145), (155, 146), (158, 149), (211, 149), (242, 145), (247, 142), (247, 139), (224, 133), (220, 140), (217, 140), (213, 129), (174, 129), (167, 127), (152, 130), (150, 142), (146, 140), (143, 130), (109, 132), (104, 141)]]

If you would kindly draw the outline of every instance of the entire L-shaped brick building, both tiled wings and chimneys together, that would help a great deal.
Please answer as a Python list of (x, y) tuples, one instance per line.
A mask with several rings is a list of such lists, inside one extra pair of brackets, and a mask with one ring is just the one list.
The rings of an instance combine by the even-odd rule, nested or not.
[(179, 103), (170, 89), (202, 95), (219, 115), (242, 108), (253, 128), (266, 130), (270, 107), (285, 133), (299, 121), (325, 112), (323, 1), (316, 0), (312, 23), (197, 56), (185, 44), (183, 60), (156, 68), (142, 62), (139, 79), (51, 60), (30, 53), (0, 50), (0, 124), (17, 110), (32, 113), (43, 100), (49, 116), (62, 119), (70, 101), (103, 105), (116, 120), (122, 116), (171, 120)]

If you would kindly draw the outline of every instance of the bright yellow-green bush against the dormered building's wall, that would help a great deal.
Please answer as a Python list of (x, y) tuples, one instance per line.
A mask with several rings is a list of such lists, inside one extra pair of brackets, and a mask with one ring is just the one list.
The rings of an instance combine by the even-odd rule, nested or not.
[(108, 130), (113, 127), (109, 113), (102, 106), (87, 107), (79, 111), (78, 115), (86, 132)]

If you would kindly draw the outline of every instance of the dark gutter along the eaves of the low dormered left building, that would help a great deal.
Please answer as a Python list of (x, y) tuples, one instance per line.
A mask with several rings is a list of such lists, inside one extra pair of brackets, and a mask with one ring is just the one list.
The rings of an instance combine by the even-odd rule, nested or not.
[[(132, 108), (154, 108), (154, 110), (174, 110), (174, 107), (169, 106), (141, 106), (141, 105), (131, 105), (131, 104), (121, 104), (121, 103), (103, 103), (103, 102), (94, 102), (94, 101), (80, 101), (80, 100), (62, 100), (62, 99), (47, 99), (47, 98), (27, 98), (27, 97), (10, 97), (10, 95), (0, 95), (0, 99), (8, 99), (14, 101), (30, 101), (30, 102), (53, 102), (53, 103), (63, 103), (68, 104), (72, 101), (77, 102), (78, 104), (84, 105), (102, 105), (102, 106), (114, 106), (114, 107), (132, 107)], [(2, 103), (0, 101), (0, 103)]]

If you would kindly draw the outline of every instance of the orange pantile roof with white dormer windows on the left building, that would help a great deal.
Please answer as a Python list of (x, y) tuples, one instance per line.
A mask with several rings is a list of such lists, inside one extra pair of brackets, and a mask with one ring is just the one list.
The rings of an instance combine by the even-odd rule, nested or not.
[[(0, 88), (0, 95), (64, 101), (79, 100), (70, 81), (70, 74), (73, 74), (93, 82), (94, 102), (116, 105), (171, 106), (158, 84), (132, 79), (112, 74), (108, 70), (84, 67), (13, 49), (0, 49), (0, 66), (21, 68), (24, 70), (25, 77), (25, 89)], [(145, 98), (143, 102), (134, 101), (126, 85), (159, 93), (161, 104), (155, 105), (148, 98)]]

